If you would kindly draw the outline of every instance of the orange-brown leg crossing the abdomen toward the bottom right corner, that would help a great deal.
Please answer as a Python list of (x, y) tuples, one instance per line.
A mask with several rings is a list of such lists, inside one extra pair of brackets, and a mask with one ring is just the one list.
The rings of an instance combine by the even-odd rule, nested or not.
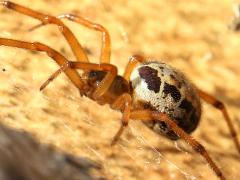
[(226, 178), (223, 176), (221, 170), (217, 167), (217, 165), (213, 162), (212, 158), (209, 156), (208, 152), (205, 148), (196, 141), (193, 137), (183, 131), (178, 125), (170, 119), (166, 114), (150, 111), (150, 110), (138, 110), (133, 111), (130, 114), (130, 118), (133, 120), (143, 120), (143, 121), (151, 121), (153, 119), (165, 122), (168, 127), (174, 131), (180, 138), (184, 139), (189, 145), (192, 146), (193, 150), (197, 153), (201, 154), (213, 171), (216, 173), (219, 179), (225, 180)]

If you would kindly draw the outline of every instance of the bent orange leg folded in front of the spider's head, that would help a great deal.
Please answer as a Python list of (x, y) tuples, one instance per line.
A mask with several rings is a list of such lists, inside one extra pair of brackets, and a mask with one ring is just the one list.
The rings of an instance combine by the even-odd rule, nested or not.
[(84, 71), (96, 70), (96, 71), (106, 71), (107, 74), (101, 83), (96, 88), (93, 93), (93, 99), (98, 99), (102, 96), (108, 88), (111, 86), (113, 80), (117, 76), (117, 68), (111, 64), (94, 64), (85, 62), (73, 62), (68, 61), (60, 69), (58, 69), (50, 78), (41, 86), (41, 89), (45, 88), (52, 80), (54, 80), (61, 72), (67, 71), (69, 69), (82, 69)]

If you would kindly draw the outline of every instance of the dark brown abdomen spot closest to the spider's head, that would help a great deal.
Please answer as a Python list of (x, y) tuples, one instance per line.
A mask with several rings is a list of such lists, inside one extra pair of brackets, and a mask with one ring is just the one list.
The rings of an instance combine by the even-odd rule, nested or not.
[(161, 78), (158, 77), (158, 71), (148, 66), (143, 66), (138, 71), (140, 77), (147, 83), (148, 89), (158, 93), (161, 86)]

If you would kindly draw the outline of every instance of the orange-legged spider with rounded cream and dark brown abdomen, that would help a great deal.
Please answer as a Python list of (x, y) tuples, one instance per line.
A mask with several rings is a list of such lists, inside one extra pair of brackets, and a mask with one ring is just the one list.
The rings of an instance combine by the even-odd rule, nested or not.
[[(221, 101), (198, 89), (181, 72), (171, 66), (159, 61), (146, 61), (140, 55), (132, 56), (124, 75), (118, 75), (117, 67), (110, 64), (109, 33), (100, 24), (72, 14), (57, 17), (45, 15), (10, 1), (2, 1), (0, 4), (40, 20), (41, 24), (34, 26), (31, 30), (47, 24), (57, 25), (76, 56), (77, 61), (69, 61), (45, 44), (0, 38), (0, 45), (45, 52), (60, 66), (43, 83), (40, 90), (64, 72), (79, 89), (81, 96), (87, 96), (100, 105), (109, 104), (112, 109), (122, 112), (122, 123), (113, 138), (112, 145), (116, 144), (130, 119), (141, 120), (153, 131), (171, 140), (184, 139), (194, 151), (205, 158), (219, 179), (226, 179), (205, 148), (189, 135), (200, 121), (201, 98), (222, 112), (237, 151), (240, 153), (237, 133)], [(63, 18), (102, 33), (99, 64), (89, 62), (80, 43), (61, 21)], [(80, 75), (77, 69), (82, 70), (83, 73)]]

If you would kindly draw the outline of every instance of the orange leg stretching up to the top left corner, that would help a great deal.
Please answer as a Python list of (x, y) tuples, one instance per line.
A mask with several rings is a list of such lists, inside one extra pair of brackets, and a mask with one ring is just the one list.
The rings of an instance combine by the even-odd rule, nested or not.
[(49, 16), (45, 15), (42, 13), (39, 13), (37, 11), (34, 11), (32, 9), (29, 9), (27, 7), (18, 5), (16, 3), (10, 2), (10, 1), (1, 1), (0, 5), (3, 5), (9, 9), (12, 9), (14, 11), (17, 11), (19, 13), (25, 14), (27, 16), (30, 16), (32, 18), (40, 20), (43, 24), (56, 24), (59, 27), (60, 32), (63, 34), (67, 42), (69, 43), (74, 55), (76, 56), (77, 60), (83, 61), (83, 62), (88, 62), (88, 57), (86, 53), (84, 52), (82, 46), (80, 43), (77, 41), (76, 37), (73, 35), (71, 30), (64, 25), (64, 23), (54, 17), (54, 16)]

